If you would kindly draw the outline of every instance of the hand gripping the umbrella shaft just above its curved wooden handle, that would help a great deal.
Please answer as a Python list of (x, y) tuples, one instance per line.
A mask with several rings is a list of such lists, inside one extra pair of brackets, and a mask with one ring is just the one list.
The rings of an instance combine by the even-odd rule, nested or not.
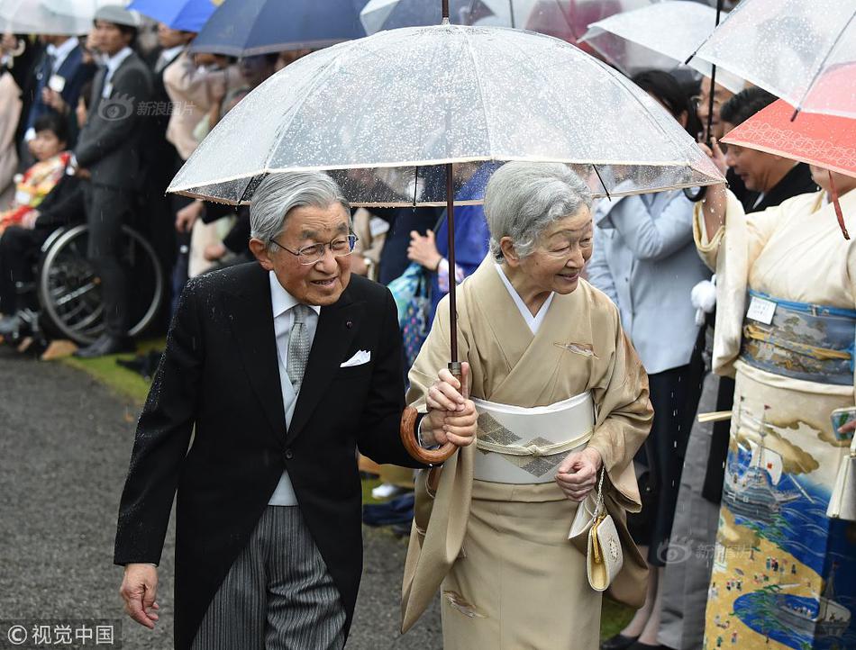
[(458, 447), (469, 447), (476, 439), (476, 405), (466, 398), (469, 395), (469, 364), (461, 364), (463, 385), (446, 369), (428, 390), (428, 415), (423, 420), (423, 442), (428, 445), (445, 445), (451, 442)]

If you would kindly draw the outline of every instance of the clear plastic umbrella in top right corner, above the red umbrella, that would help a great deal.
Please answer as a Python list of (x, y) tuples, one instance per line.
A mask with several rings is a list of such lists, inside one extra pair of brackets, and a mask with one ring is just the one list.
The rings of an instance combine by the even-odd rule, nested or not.
[(856, 61), (856, 0), (743, 0), (696, 57), (797, 111), (856, 117), (856, 78), (841, 74)]

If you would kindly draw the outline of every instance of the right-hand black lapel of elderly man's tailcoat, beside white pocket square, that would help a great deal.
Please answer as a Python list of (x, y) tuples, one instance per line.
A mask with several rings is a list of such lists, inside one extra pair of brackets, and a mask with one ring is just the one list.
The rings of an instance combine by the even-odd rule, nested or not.
[(363, 302), (351, 301), (347, 290), (342, 293), (339, 302), (321, 308), (287, 442), (296, 438), (305, 427), (327, 386), (339, 372), (351, 341), (360, 329), (363, 308)]

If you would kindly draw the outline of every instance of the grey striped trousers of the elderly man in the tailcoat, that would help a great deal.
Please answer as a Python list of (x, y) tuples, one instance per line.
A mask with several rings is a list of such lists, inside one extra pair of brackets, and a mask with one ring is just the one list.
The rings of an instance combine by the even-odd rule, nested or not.
[(193, 650), (337, 650), (345, 610), (300, 509), (268, 506), (205, 612)]

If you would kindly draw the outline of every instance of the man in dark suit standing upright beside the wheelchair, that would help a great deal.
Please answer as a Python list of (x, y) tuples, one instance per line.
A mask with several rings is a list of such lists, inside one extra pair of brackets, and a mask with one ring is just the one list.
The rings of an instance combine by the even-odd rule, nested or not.
[(80, 131), (71, 167), (82, 184), (89, 225), (89, 261), (101, 278), (105, 334), (78, 357), (101, 357), (133, 349), (128, 336), (126, 269), (119, 259), (122, 226), (132, 219), (143, 182), (141, 107), (151, 95), (149, 68), (131, 49), (137, 18), (119, 5), (96, 12), (95, 36), (105, 58), (92, 88), (87, 123)]

